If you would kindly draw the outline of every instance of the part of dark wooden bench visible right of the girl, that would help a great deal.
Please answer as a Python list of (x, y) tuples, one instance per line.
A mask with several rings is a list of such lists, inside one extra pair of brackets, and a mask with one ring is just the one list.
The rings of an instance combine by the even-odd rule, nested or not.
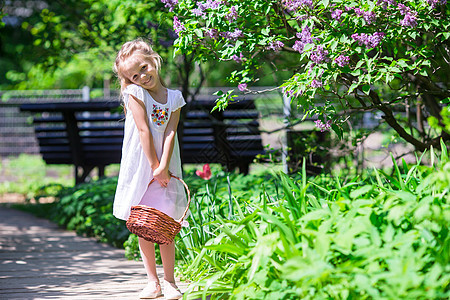
[(252, 100), (230, 103), (225, 111), (211, 110), (215, 98), (197, 98), (186, 105), (180, 123), (183, 163), (220, 163), (248, 173), (255, 156), (264, 152), (259, 112)]

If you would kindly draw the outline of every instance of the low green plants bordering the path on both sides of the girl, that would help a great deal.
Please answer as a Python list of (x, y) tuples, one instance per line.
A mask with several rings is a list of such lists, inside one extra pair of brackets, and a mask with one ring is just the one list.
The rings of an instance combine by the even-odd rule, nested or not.
[[(442, 142), (443, 143), (443, 142)], [(450, 160), (393, 160), (364, 176), (185, 176), (190, 226), (176, 240), (188, 299), (448, 299)], [(431, 166), (421, 161), (429, 155)], [(64, 189), (53, 220), (121, 246), (137, 238), (112, 216), (117, 179)]]

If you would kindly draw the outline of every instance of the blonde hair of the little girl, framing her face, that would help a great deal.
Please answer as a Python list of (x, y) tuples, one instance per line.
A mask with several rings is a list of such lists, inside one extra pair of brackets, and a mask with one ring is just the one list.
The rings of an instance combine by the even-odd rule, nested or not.
[[(129, 84), (131, 84), (131, 80), (127, 78), (124, 74), (124, 65), (125, 60), (127, 60), (132, 55), (140, 55), (145, 60), (151, 61), (158, 74), (161, 70), (162, 58), (159, 56), (156, 51), (153, 50), (152, 46), (150, 46), (147, 42), (145, 42), (142, 38), (135, 39), (130, 42), (126, 42), (122, 45), (122, 48), (119, 50), (116, 56), (116, 61), (114, 63), (114, 73), (117, 75), (117, 78), (120, 81), (120, 89), (123, 91)], [(165, 86), (164, 81), (161, 76), (159, 77), (162, 85)]]

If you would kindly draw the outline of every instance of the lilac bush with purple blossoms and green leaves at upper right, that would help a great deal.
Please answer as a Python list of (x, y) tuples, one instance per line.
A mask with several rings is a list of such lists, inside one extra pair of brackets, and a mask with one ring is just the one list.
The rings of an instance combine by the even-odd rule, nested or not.
[[(270, 61), (292, 70), (283, 92), (305, 114), (328, 120), (324, 128), (339, 136), (353, 113), (381, 111), (383, 121), (418, 150), (450, 139), (445, 126), (426, 130), (430, 118), (447, 122), (447, 0), (163, 2), (179, 34), (176, 51), (236, 62), (228, 80), (240, 91), (251, 93), (258, 70)], [(233, 95), (222, 94), (218, 105), (226, 108)], [(411, 107), (413, 119), (398, 117), (399, 109)]]

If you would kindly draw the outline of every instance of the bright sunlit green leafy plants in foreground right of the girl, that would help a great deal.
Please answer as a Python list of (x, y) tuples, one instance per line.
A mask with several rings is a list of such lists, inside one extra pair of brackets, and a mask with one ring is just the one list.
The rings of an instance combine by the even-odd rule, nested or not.
[(187, 298), (447, 299), (450, 163), (431, 156), (364, 179), (280, 175), (276, 197), (230, 192), (233, 215), (203, 224), (206, 243), (184, 236)]

